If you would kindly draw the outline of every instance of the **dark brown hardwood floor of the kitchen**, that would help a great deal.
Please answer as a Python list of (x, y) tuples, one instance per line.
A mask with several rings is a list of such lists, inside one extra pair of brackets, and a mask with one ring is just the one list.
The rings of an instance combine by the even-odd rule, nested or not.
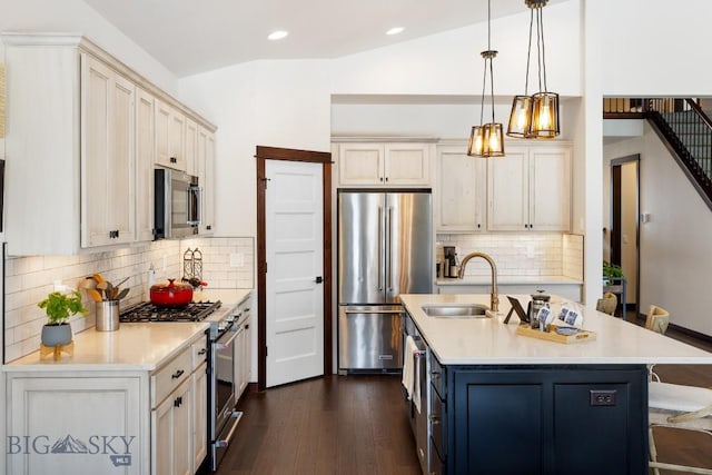
[[(712, 350), (674, 330), (669, 336)], [(657, 365), (669, 383), (712, 387), (712, 367)], [(418, 475), (399, 376), (328, 376), (246, 394), (245, 416), (218, 475)], [(712, 467), (712, 438), (655, 429), (661, 462)], [(673, 472), (661, 471), (662, 474)]]

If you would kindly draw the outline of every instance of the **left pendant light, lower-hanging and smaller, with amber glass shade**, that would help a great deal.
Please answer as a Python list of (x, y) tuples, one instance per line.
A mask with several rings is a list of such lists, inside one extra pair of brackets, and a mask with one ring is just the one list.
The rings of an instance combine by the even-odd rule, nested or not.
[[(492, 0), (487, 0), (487, 50), (482, 51), (485, 60), (484, 78), (482, 80), (482, 108), (479, 109), (479, 126), (474, 126), (469, 133), (467, 155), (472, 157), (504, 157), (504, 133), (502, 123), (494, 121), (494, 68), (492, 60), (497, 51), (491, 47), (491, 8)], [(483, 123), (485, 110), (485, 90), (487, 87), (487, 67), (490, 68), (490, 99), (492, 105), (492, 122)]]

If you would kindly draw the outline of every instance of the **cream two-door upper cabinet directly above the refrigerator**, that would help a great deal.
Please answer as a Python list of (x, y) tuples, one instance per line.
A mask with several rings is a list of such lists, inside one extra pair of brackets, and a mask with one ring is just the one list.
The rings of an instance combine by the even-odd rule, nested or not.
[(342, 186), (427, 186), (431, 144), (348, 142), (338, 145)]

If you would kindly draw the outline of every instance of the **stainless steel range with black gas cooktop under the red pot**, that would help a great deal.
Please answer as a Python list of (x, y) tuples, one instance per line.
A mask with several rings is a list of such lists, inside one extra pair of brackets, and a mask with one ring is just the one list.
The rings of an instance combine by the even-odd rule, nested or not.
[(235, 336), (237, 306), (217, 301), (190, 303), (182, 307), (160, 307), (150, 303), (127, 308), (120, 315), (123, 323), (208, 321), (208, 441), (210, 449), (204, 466), (212, 472), (225, 456), (241, 413), (237, 404), (235, 378)]

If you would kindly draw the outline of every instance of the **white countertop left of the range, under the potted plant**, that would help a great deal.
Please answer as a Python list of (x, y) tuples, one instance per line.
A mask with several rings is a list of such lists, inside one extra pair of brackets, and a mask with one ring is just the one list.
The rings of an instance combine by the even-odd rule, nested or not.
[(149, 370), (178, 355), (208, 328), (205, 321), (120, 324), (115, 331), (89, 328), (75, 335), (75, 354), (40, 359), (39, 350), (4, 365), (3, 370)]

